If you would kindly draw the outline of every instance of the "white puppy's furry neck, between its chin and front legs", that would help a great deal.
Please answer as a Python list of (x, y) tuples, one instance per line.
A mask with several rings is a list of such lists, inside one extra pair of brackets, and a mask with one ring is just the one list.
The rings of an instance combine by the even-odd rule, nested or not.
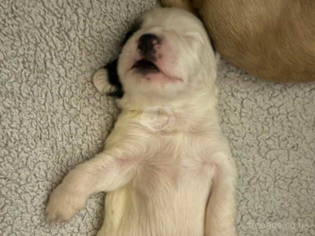
[(131, 102), (128, 97), (123, 97), (118, 106), (122, 108), (122, 114), (133, 113), (144, 125), (153, 126), (153, 130), (165, 128), (163, 131), (167, 133), (220, 130), (216, 94), (202, 93), (168, 101), (146, 99)]

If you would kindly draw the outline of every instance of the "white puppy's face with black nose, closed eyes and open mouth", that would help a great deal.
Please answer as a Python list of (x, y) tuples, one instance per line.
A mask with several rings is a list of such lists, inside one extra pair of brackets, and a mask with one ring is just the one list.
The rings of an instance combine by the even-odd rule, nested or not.
[(209, 89), (216, 65), (202, 23), (184, 10), (160, 8), (146, 12), (125, 43), (118, 74), (129, 96), (171, 99)]

